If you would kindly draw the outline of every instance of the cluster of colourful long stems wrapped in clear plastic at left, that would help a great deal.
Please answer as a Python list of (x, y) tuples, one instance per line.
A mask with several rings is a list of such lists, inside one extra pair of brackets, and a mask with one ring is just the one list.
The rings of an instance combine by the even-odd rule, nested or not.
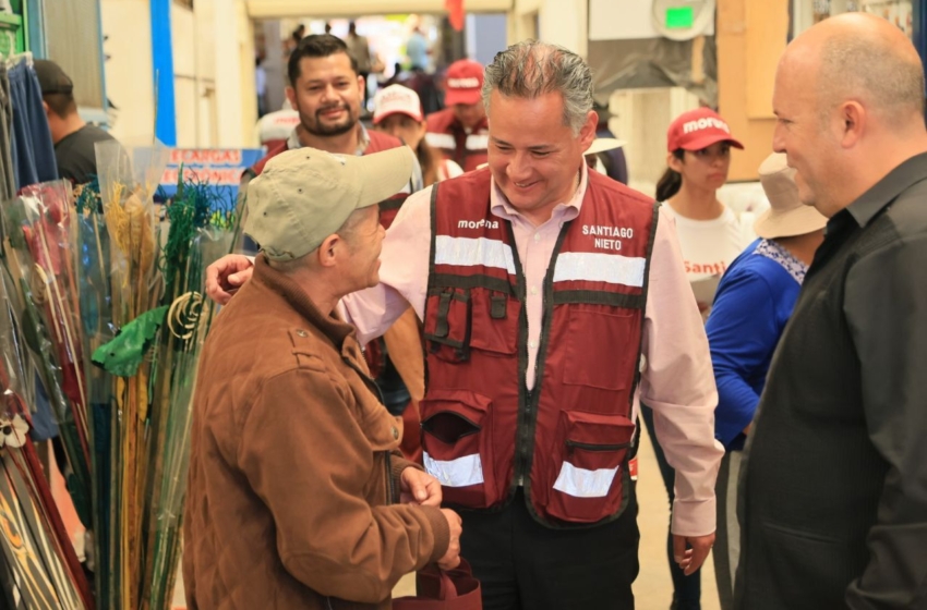
[[(59, 588), (82, 594), (52, 607), (160, 610), (170, 608), (174, 586), (191, 400), (213, 315), (203, 274), (231, 248), (233, 204), (208, 185), (179, 184), (160, 220), (154, 195), (167, 150), (133, 155), (133, 172), (118, 144), (97, 147), (99, 181), (79, 187), (75, 205), (51, 205), (72, 198), (64, 183), (49, 183), (36, 188), (67, 196), (23, 196), (4, 206), (7, 263), (25, 304), (12, 318), (41, 337), (12, 359), (35, 359), (49, 395), (68, 488), (93, 533), (95, 595), (69, 557), (63, 526), (53, 526), (53, 502), (37, 509), (57, 541), (38, 563), (46, 577), (55, 565), (69, 566), (59, 580), (70, 588)], [(2, 341), (0, 350), (7, 350)], [(25, 386), (17, 396), (29, 394)], [(17, 424), (28, 425), (34, 410), (21, 408)], [(0, 432), (16, 414), (0, 413)], [(4, 460), (7, 453), (0, 448)], [(36, 489), (45, 484), (38, 474), (27, 477)], [(4, 490), (0, 476), (0, 517)], [(0, 573), (0, 587), (15, 588), (15, 580)]]

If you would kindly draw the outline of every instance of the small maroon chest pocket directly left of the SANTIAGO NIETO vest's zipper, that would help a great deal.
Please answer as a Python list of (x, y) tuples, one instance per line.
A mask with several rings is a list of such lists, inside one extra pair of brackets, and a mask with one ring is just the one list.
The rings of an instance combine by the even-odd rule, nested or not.
[(490, 356), (515, 354), (521, 303), (505, 292), (474, 289), (471, 295), (470, 346)]

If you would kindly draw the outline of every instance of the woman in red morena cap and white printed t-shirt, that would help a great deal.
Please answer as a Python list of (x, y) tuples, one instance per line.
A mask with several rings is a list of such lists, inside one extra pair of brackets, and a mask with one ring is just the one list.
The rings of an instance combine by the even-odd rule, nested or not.
[[(657, 184), (657, 200), (674, 217), (686, 274), (699, 309), (708, 317), (718, 281), (727, 266), (755, 239), (753, 215), (735, 215), (718, 200), (718, 190), (727, 181), (731, 147), (744, 146), (731, 136), (731, 129), (708, 108), (676, 118), (666, 133), (669, 168)], [(747, 218), (749, 217), (749, 218)], [(653, 412), (640, 405), (641, 418), (650, 432), (660, 474), (673, 505), (675, 472), (666, 462), (654, 435)], [(674, 560), (672, 534), (667, 536), (670, 573), (673, 577), (673, 608), (701, 608), (699, 572), (686, 576)]]

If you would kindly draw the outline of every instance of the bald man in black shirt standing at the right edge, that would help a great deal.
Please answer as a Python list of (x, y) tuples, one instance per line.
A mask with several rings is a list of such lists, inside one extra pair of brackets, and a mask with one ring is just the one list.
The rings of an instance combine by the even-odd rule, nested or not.
[(927, 608), (920, 60), (886, 21), (832, 17), (786, 49), (773, 108), (829, 222), (751, 427), (735, 606)]

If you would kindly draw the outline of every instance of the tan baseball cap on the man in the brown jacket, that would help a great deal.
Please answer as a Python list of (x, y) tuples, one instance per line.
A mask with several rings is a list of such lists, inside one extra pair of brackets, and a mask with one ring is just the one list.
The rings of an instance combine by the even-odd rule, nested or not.
[(244, 232), (268, 258), (314, 251), (354, 210), (400, 192), (412, 176), (408, 146), (357, 157), (315, 148), (280, 152), (248, 185)]

